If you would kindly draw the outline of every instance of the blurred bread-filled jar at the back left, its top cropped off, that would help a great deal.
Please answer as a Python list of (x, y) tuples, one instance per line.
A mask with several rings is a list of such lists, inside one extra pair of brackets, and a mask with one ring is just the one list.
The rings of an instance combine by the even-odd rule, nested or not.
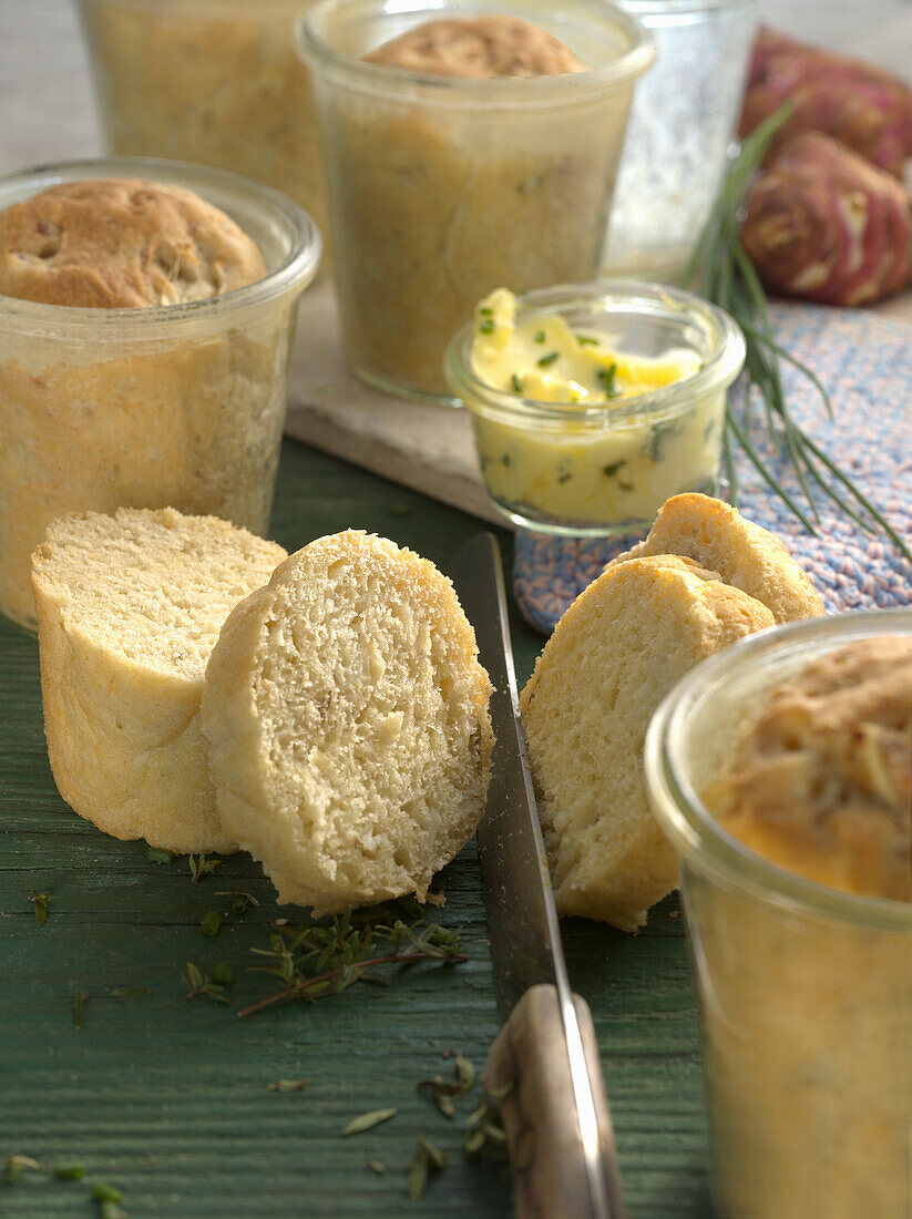
[(324, 230), (307, 69), (307, 0), (79, 0), (107, 145), (233, 169), (289, 195)]

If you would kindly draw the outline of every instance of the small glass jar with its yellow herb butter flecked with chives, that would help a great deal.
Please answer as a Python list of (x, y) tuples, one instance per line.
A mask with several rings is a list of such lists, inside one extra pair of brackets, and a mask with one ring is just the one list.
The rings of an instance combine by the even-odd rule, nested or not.
[(634, 279), (497, 290), (445, 372), (472, 412), (482, 479), (515, 524), (645, 531), (680, 491), (714, 495), (744, 338), (691, 293)]

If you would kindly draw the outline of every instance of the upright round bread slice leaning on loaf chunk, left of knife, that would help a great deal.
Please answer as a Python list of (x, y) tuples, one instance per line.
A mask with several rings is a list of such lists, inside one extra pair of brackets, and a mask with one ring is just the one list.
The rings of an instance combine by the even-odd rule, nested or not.
[(349, 531), (228, 617), (204, 730), (226, 831), (315, 914), (415, 892), (485, 803), (490, 681), (450, 581)]

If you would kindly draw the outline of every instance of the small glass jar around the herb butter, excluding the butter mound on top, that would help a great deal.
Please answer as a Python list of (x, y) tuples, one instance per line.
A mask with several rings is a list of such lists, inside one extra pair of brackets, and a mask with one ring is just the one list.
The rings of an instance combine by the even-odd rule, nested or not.
[(450, 388), (472, 412), (482, 480), (510, 521), (545, 533), (645, 533), (679, 491), (718, 488), (728, 388), (744, 364), (732, 318), (693, 293), (602, 279), (527, 293), (517, 324), (558, 315), (625, 355), (693, 351), (697, 373), (617, 403), (539, 402), (493, 389), (472, 367), (473, 327), (446, 354)]

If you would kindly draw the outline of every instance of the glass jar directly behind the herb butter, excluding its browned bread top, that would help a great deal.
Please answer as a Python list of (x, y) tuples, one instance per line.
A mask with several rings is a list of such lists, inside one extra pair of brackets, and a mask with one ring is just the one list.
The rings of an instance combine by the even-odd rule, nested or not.
[(451, 335), (499, 284), (597, 274), (636, 78), (652, 44), (599, 0), (502, 0), (591, 71), (465, 79), (360, 56), (477, 0), (322, 0), (299, 29), (315, 84), (345, 355), (379, 389), (446, 401)]

